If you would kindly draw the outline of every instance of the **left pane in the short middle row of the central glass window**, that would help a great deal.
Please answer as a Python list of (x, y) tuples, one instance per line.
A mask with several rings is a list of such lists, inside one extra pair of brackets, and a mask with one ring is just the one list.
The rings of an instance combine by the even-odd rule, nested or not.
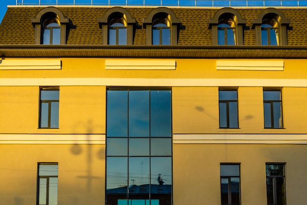
[(107, 138), (106, 154), (108, 156), (127, 156), (128, 139), (127, 138)]

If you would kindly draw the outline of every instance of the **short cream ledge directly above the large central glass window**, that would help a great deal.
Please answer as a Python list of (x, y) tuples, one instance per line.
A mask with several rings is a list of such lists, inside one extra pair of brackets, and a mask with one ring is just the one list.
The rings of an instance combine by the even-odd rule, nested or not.
[(175, 70), (175, 60), (105, 60), (106, 70)]

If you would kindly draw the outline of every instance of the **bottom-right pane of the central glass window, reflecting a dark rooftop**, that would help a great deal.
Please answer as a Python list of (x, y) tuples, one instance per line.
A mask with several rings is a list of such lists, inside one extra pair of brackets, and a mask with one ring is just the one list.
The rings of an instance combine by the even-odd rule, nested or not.
[(151, 199), (159, 205), (172, 204), (172, 158), (151, 158)]

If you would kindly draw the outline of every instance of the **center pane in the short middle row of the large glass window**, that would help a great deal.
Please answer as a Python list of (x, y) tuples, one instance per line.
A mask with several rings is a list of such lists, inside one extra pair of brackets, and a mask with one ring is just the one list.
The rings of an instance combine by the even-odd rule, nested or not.
[(148, 156), (149, 138), (130, 138), (129, 156)]

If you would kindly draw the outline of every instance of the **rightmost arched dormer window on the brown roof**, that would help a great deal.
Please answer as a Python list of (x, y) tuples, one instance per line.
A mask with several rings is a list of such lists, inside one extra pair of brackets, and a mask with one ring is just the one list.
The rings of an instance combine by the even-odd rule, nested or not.
[(290, 20), (278, 9), (263, 10), (252, 24), (252, 29), (256, 29), (257, 45), (286, 45), (289, 24)]

